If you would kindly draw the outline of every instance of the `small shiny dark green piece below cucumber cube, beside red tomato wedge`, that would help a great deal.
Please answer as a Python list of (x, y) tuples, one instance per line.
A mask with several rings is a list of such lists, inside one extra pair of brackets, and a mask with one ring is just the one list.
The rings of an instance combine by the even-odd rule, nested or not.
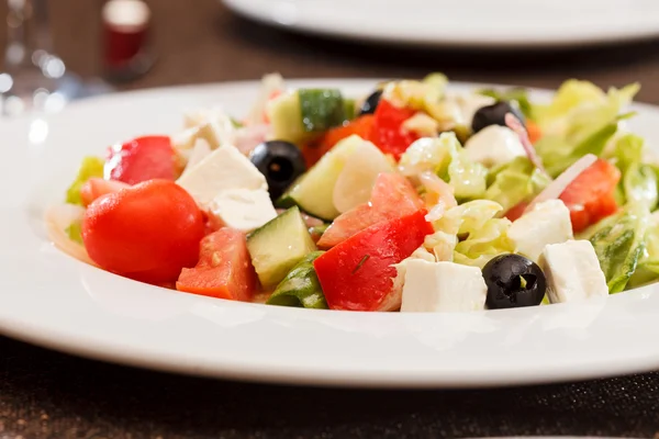
[(306, 255), (277, 285), (266, 303), (268, 305), (327, 309), (327, 302), (313, 268), (313, 261), (323, 254), (324, 251), (313, 251)]

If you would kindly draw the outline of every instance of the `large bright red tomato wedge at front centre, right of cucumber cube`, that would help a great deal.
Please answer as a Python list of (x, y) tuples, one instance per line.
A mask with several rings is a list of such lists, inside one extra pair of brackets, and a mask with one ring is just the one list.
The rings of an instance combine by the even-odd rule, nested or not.
[(401, 305), (393, 291), (401, 262), (423, 244), (433, 226), (425, 210), (376, 224), (320, 256), (313, 266), (332, 309), (394, 311)]

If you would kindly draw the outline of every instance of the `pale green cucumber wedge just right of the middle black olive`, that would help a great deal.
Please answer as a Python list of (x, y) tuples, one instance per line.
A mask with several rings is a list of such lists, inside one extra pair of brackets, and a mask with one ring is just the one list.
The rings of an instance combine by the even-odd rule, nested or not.
[[(340, 140), (305, 175), (293, 183), (280, 201), (294, 202), (317, 218), (332, 221), (339, 212), (334, 206), (334, 187), (346, 161), (365, 140), (353, 135)], [(279, 204), (279, 203), (278, 203)]]

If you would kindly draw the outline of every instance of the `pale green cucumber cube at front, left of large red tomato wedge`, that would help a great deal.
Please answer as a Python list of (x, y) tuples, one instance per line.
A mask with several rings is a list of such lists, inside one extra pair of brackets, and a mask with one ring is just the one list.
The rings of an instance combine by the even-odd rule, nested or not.
[(261, 285), (271, 288), (316, 246), (293, 206), (249, 234), (247, 249)]

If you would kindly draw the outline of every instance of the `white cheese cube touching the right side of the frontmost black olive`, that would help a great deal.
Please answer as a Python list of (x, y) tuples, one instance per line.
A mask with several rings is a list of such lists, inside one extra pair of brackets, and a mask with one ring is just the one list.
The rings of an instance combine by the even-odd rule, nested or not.
[(551, 303), (608, 295), (597, 255), (588, 240), (548, 245), (539, 266), (547, 278), (547, 296)]

